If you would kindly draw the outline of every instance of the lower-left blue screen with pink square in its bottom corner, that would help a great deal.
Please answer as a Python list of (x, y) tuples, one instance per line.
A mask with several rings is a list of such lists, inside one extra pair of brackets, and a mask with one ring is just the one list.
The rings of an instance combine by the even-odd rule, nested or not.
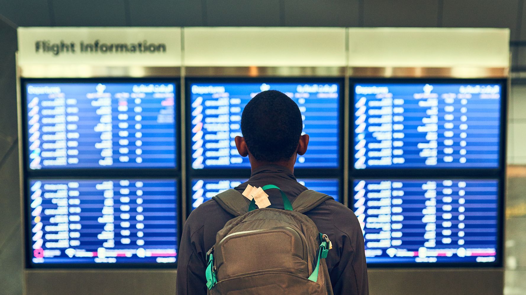
[(177, 260), (174, 180), (31, 180), (33, 264)]

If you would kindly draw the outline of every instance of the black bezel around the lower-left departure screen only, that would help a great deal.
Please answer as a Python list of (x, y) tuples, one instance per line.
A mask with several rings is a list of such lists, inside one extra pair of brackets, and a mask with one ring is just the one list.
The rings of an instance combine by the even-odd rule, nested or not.
[[(134, 263), (123, 263), (123, 262), (115, 262), (115, 263), (96, 263), (96, 262), (89, 262), (85, 264), (67, 264), (67, 263), (43, 263), (43, 264), (35, 264), (32, 260), (32, 243), (31, 243), (31, 226), (32, 226), (32, 216), (30, 214), (29, 209), (29, 195), (31, 192), (31, 181), (39, 181), (39, 180), (59, 180), (59, 181), (77, 181), (77, 180), (121, 180), (121, 178), (127, 178), (128, 180), (136, 180), (136, 181), (143, 181), (143, 180), (164, 180), (164, 181), (174, 181), (176, 186), (176, 195), (175, 195), (175, 201), (176, 201), (176, 262), (169, 262), (166, 264), (161, 263), (151, 263), (151, 262), (134, 262)], [(57, 176), (44, 176), (44, 177), (25, 177), (24, 180), (24, 187), (26, 190), (26, 194), (24, 195), (24, 212), (25, 212), (25, 247), (26, 247), (26, 253), (25, 253), (25, 259), (26, 259), (26, 268), (32, 268), (32, 269), (42, 269), (42, 268), (64, 268), (64, 269), (71, 269), (71, 268), (82, 268), (82, 269), (119, 269), (119, 268), (148, 268), (148, 269), (175, 269), (177, 268), (177, 264), (179, 262), (179, 245), (180, 245), (180, 239), (181, 239), (181, 229), (183, 226), (180, 223), (181, 215), (183, 214), (183, 210), (181, 210), (181, 181), (179, 178), (173, 178), (173, 177), (97, 177), (97, 176), (87, 176), (87, 177), (57, 177)]]

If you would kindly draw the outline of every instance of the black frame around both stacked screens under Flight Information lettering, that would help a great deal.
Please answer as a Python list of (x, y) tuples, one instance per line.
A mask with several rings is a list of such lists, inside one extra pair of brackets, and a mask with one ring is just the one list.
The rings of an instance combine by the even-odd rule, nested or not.
[[(174, 128), (176, 129), (175, 133), (175, 146), (177, 149), (176, 153), (176, 167), (175, 168), (73, 168), (73, 169), (44, 169), (44, 170), (31, 170), (28, 165), (28, 136), (27, 136), (27, 94), (25, 91), (26, 85), (28, 83), (94, 83), (94, 82), (107, 82), (107, 83), (173, 83), (175, 85), (175, 105), (174, 105)], [(180, 126), (181, 120), (179, 115), (181, 113), (181, 97), (180, 97), (180, 82), (178, 77), (168, 77), (168, 78), (45, 78), (45, 79), (21, 79), (21, 121), (22, 125), (20, 130), (23, 135), (22, 145), (22, 162), (23, 164), (23, 186), (22, 186), (22, 197), (23, 197), (23, 223), (24, 223), (24, 246), (25, 246), (25, 267), (26, 269), (38, 269), (38, 268), (177, 268), (177, 261), (170, 264), (151, 264), (151, 263), (135, 263), (135, 264), (38, 264), (35, 265), (32, 262), (31, 254), (31, 214), (29, 214), (29, 199), (28, 199), (28, 188), (30, 180), (40, 180), (40, 179), (59, 179), (59, 180), (84, 180), (84, 179), (120, 179), (120, 178), (129, 178), (136, 180), (174, 180), (176, 182), (176, 206), (177, 206), (177, 246), (179, 246), (181, 231), (183, 225), (181, 223), (181, 216), (185, 214), (183, 209), (183, 198), (182, 192), (183, 183), (181, 181), (181, 129)]]

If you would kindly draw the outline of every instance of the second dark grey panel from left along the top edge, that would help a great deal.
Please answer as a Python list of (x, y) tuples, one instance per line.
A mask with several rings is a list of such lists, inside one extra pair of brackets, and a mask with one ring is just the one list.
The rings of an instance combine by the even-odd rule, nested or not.
[(124, 0), (50, 0), (55, 26), (126, 26)]

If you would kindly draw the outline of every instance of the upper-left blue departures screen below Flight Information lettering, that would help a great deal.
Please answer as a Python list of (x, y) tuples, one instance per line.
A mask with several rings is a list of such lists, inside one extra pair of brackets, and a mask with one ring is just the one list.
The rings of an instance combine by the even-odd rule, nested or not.
[(173, 83), (29, 83), (26, 97), (32, 170), (176, 165)]

